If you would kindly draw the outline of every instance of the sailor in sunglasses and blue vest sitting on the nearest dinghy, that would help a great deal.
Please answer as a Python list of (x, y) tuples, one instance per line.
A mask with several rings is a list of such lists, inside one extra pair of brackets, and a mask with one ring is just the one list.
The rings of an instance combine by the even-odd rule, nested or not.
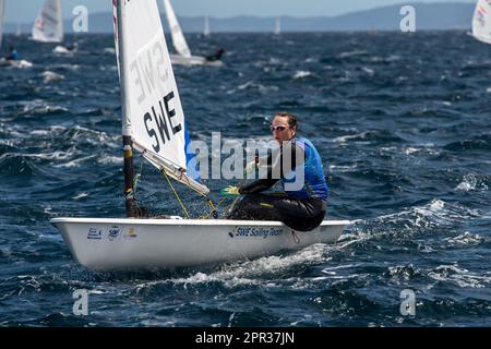
[[(278, 155), (268, 158), (267, 178), (221, 190), (223, 195), (243, 195), (227, 214), (228, 219), (279, 220), (298, 231), (311, 231), (321, 225), (328, 195), (321, 156), (309, 140), (297, 136), (297, 130), (296, 116), (275, 116), (271, 131), (279, 144)], [(276, 176), (279, 178), (274, 173), (280, 173)], [(294, 185), (298, 178), (302, 181)], [(264, 193), (278, 181), (283, 192)]]

